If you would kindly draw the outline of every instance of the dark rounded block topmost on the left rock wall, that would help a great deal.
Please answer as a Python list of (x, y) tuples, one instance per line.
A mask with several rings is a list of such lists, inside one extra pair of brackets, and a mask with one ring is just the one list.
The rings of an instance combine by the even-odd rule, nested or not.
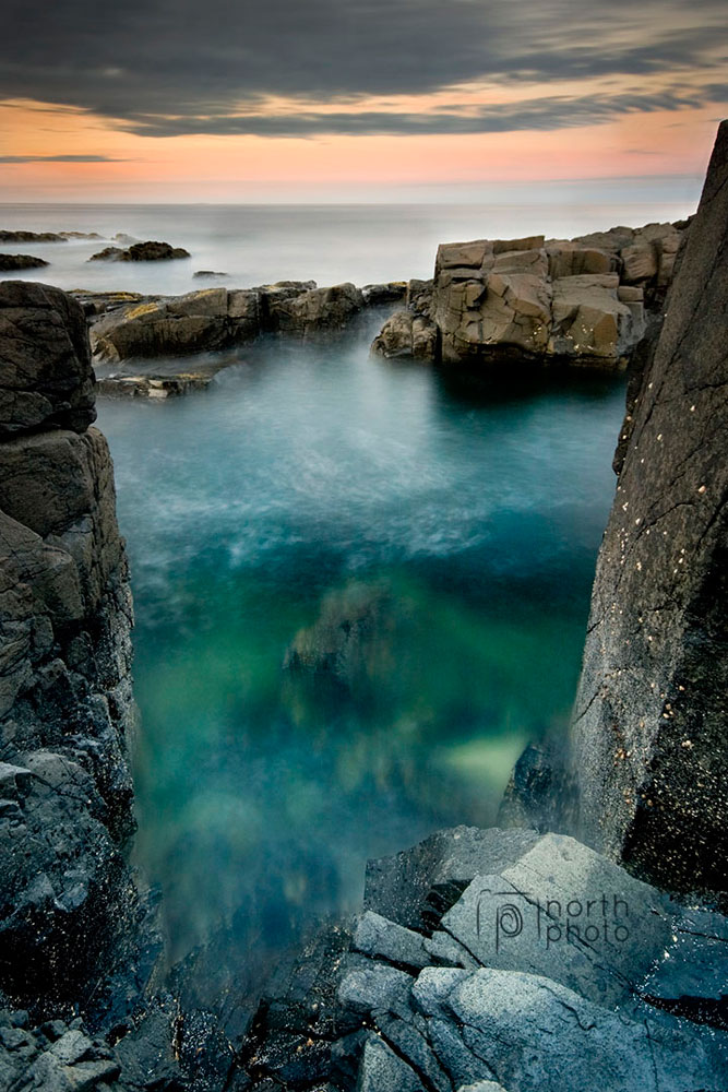
[(0, 440), (96, 419), (81, 308), (59, 288), (0, 283)]

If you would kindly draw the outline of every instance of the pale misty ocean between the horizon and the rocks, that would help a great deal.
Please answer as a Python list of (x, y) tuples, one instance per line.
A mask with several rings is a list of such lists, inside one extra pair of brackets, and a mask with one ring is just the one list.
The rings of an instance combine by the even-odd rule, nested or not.
[[(566, 237), (694, 211), (681, 201), (588, 204), (554, 201), (524, 205), (0, 205), (0, 228), (96, 232), (102, 240), (0, 245), (44, 258), (46, 270), (22, 276), (62, 288), (127, 288), (183, 293), (201, 287), (196, 270), (228, 273), (249, 287), (287, 278), (319, 284), (429, 277), (439, 242), (515, 238), (544, 233)], [(191, 259), (155, 263), (88, 264), (88, 258), (123, 233), (184, 247)]]

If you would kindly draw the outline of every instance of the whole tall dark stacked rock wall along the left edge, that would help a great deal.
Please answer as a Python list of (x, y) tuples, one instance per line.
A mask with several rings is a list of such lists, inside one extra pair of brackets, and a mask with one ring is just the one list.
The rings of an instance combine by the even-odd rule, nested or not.
[(40, 1011), (83, 999), (135, 913), (132, 606), (83, 311), (36, 284), (0, 299), (17, 392), (0, 432), (0, 989)]

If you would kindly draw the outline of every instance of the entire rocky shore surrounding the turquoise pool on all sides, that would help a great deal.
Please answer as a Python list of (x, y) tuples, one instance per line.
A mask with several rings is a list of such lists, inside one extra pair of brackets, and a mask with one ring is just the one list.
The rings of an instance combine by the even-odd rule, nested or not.
[[(0, 1088), (728, 1089), (727, 179), (724, 123), (688, 232), (450, 245), (432, 283), (153, 299), (0, 285)], [(336, 332), (402, 300), (387, 356), (643, 354), (570, 762), (516, 768), (503, 815), (521, 829), (440, 831), (370, 862), (363, 913), (282, 960), (263, 999), (202, 1004), (189, 966), (166, 973), (129, 864), (133, 616), (92, 347), (116, 368)], [(150, 394), (160, 377), (142, 379)], [(545, 817), (544, 784), (552, 800), (566, 779), (569, 809)]]

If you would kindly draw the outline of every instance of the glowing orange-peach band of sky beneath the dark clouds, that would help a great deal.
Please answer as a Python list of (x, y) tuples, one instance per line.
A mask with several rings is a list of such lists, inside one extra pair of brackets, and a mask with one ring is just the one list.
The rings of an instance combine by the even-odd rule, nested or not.
[[(277, 112), (285, 109), (275, 105)], [(437, 96), (429, 96), (425, 108), (437, 105)], [(403, 103), (392, 106), (401, 109)], [(0, 155), (29, 162), (0, 164), (0, 200), (295, 201), (327, 200), (335, 192), (377, 200), (391, 188), (416, 199), (413, 188), (422, 186), (702, 177), (719, 117), (719, 107), (707, 106), (552, 131), (160, 138), (127, 132), (120, 122), (84, 110), (16, 100), (0, 104)], [(109, 162), (33, 161), (55, 155)]]

